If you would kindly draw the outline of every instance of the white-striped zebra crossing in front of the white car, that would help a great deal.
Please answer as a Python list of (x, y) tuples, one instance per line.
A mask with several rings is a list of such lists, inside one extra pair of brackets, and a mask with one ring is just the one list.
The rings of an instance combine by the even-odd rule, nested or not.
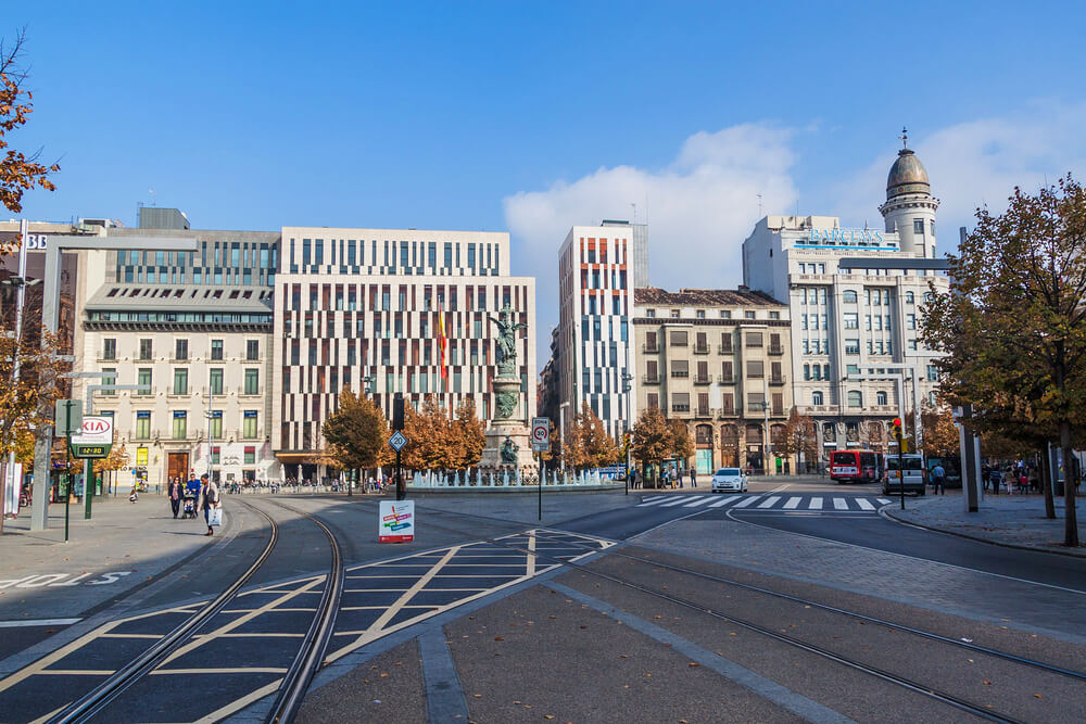
[(642, 497), (637, 508), (677, 508), (686, 512), (689, 508), (745, 509), (752, 512), (784, 512), (791, 515), (821, 513), (877, 513), (879, 507), (891, 503), (889, 498), (859, 495), (826, 495), (787, 493), (744, 493), (740, 495), (649, 495)]

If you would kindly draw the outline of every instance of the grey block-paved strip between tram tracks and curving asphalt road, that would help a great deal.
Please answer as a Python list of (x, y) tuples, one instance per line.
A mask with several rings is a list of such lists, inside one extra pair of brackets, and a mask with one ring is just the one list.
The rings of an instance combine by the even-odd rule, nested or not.
[(685, 520), (637, 545), (1086, 644), (1086, 595), (731, 521)]

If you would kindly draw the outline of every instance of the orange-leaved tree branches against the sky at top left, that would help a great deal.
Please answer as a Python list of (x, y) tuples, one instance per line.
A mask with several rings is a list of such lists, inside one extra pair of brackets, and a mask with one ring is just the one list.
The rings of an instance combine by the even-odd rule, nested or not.
[(29, 189), (55, 190), (49, 175), (61, 169), (58, 164), (38, 163), (40, 152), (27, 156), (9, 148), (8, 135), (34, 112), (34, 94), (25, 87), (27, 76), (21, 65), (25, 42), (23, 31), (8, 46), (0, 42), (0, 204), (13, 214), (23, 211), (23, 193)]

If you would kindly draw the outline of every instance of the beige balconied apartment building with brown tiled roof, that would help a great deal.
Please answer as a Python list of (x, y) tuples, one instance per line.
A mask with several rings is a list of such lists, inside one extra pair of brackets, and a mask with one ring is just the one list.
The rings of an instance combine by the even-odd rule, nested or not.
[(790, 472), (774, 442), (793, 405), (791, 323), (787, 305), (744, 287), (634, 290), (637, 408), (686, 422), (687, 468)]

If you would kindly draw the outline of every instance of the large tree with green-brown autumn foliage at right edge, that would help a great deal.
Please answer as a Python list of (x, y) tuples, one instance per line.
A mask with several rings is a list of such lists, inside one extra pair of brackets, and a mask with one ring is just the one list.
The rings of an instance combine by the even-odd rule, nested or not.
[[(1086, 192), (1070, 175), (1031, 195), (1015, 188), (998, 216), (951, 255), (951, 293), (924, 310), (924, 343), (943, 393), (971, 404), (968, 424), (1052, 435), (1065, 460), (1086, 421)], [(1073, 471), (1069, 471), (1073, 472)], [(1075, 485), (1064, 485), (1064, 544), (1078, 545)]]

